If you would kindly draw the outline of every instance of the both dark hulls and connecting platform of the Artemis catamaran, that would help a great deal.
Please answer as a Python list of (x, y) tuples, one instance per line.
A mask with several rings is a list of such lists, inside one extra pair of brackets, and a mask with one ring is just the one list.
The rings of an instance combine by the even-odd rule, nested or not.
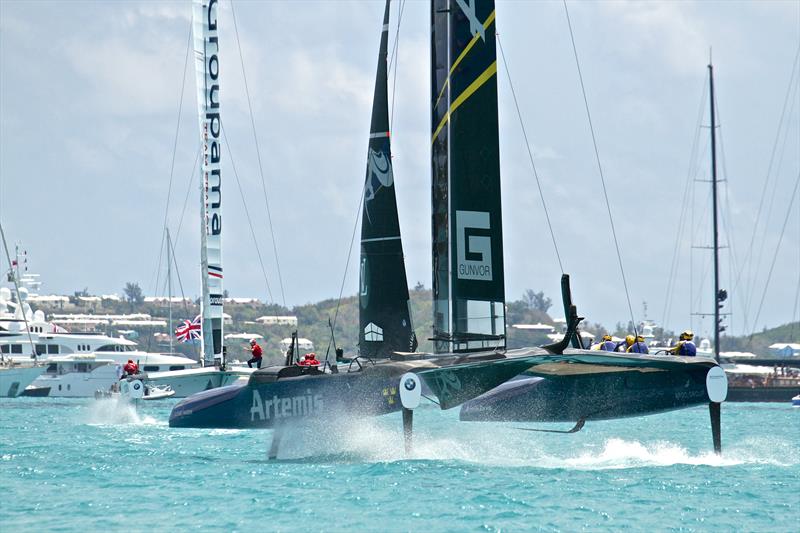
[[(695, 358), (586, 350), (552, 354), (531, 348), (398, 355), (374, 364), (354, 364), (349, 367), (353, 372), (345, 369), (338, 374), (270, 367), (252, 374), (246, 384), (186, 398), (175, 406), (169, 423), (172, 427), (257, 429), (309, 418), (379, 416), (401, 410), (400, 378), (407, 372), (422, 379), (442, 409), (475, 400), (462, 410), (465, 420), (617, 418), (708, 401), (705, 377), (712, 366), (713, 361)], [(545, 375), (546, 380), (499, 387), (526, 370)]]

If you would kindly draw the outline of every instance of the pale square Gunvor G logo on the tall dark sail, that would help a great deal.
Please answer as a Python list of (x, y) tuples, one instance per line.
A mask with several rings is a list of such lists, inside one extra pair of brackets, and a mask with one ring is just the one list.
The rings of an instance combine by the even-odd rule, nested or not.
[(492, 237), (489, 213), (456, 211), (458, 279), (492, 281)]

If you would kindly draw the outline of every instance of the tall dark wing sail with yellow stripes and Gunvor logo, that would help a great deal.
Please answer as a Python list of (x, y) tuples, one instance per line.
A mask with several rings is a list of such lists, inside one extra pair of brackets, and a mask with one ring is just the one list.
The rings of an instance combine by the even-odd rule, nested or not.
[(505, 346), (493, 0), (431, 4), (434, 341)]

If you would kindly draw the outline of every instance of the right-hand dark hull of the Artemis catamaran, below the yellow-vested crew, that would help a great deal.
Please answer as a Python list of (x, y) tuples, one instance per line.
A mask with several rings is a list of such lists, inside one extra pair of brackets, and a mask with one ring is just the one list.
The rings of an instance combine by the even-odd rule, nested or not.
[(707, 368), (672, 372), (613, 372), (525, 377), (461, 407), (461, 420), (575, 422), (625, 418), (709, 402)]

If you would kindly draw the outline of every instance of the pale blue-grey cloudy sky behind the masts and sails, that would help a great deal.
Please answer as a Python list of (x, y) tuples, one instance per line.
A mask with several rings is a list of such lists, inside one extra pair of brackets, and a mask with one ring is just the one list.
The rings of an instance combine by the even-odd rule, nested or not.
[[(646, 302), (647, 318), (667, 327), (704, 334), (711, 324), (690, 315), (712, 310), (710, 254), (692, 249), (710, 244), (709, 119), (701, 105), (711, 54), (728, 246), (721, 286), (731, 293), (726, 323), (740, 334), (796, 320), (797, 193), (789, 207), (800, 176), (798, 74), (792, 77), (800, 2), (567, 5), (634, 318), (645, 317)], [(392, 40), (399, 7), (393, 3)], [(496, 10), (508, 63), (498, 69), (507, 299), (534, 289), (560, 301), (561, 275), (510, 73), (579, 312), (609, 326), (627, 322), (564, 5), (498, 1)], [(343, 278), (344, 294), (355, 294), (357, 246), (345, 265), (382, 14), (383, 3), (371, 1), (222, 0), (221, 113), (230, 156), (223, 254), (232, 296), (278, 303), (285, 296), (292, 306), (337, 297)], [(10, 241), (28, 250), (42, 292), (121, 293), (132, 281), (147, 295), (163, 294), (156, 273), (163, 280), (166, 220), (184, 290), (199, 293), (191, 61), (184, 69), (190, 16), (185, 1), (0, 1), (0, 221)], [(409, 283), (430, 287), (427, 2), (405, 2), (397, 35), (390, 75), (398, 209)]]

